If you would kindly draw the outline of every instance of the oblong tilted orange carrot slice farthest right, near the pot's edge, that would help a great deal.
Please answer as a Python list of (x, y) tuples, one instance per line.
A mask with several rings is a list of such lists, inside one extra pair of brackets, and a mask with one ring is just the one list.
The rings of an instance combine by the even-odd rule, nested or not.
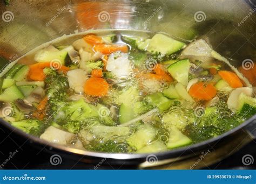
[(232, 88), (240, 88), (243, 86), (237, 74), (233, 72), (221, 70), (219, 71), (219, 75), (223, 80), (230, 84)]

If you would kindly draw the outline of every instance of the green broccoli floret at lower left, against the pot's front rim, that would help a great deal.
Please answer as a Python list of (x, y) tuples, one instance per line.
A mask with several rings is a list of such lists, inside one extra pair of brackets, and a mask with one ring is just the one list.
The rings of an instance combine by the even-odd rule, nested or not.
[(41, 135), (44, 128), (43, 123), (36, 119), (26, 119), (19, 122), (12, 122), (11, 124), (16, 128), (35, 136)]

